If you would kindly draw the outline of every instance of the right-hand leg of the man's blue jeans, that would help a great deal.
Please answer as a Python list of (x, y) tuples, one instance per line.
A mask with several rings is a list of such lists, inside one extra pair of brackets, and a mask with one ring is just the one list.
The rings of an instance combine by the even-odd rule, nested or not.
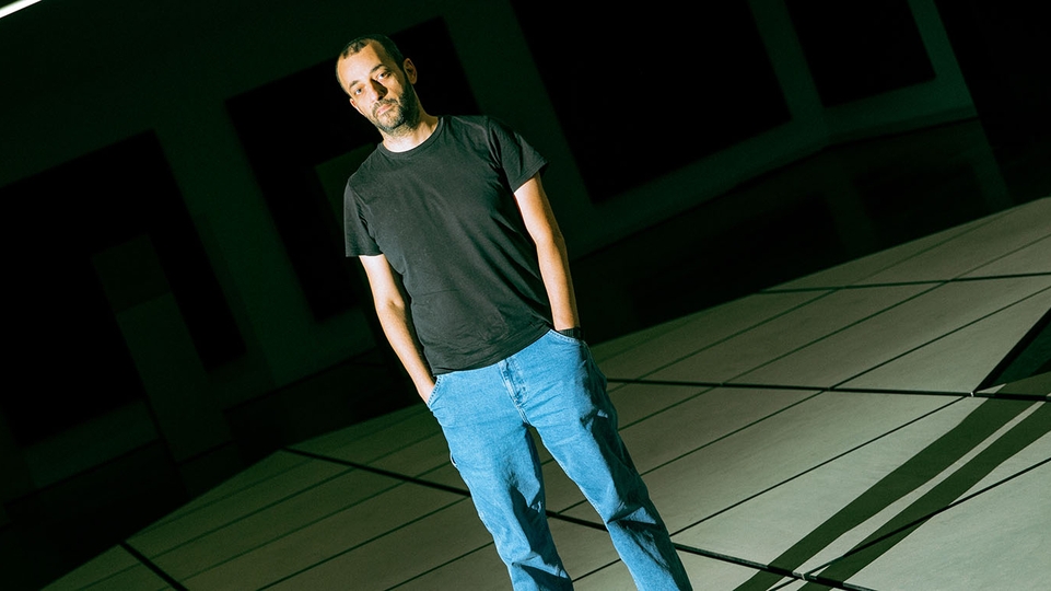
[(510, 359), (524, 375), (528, 420), (606, 523), (639, 589), (691, 589), (666, 525), (617, 430), (606, 378), (587, 346), (549, 333)]

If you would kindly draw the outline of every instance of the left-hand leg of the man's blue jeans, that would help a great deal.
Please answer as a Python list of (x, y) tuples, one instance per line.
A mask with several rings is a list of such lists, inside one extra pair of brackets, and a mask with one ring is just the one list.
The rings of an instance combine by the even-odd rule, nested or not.
[(572, 589), (548, 528), (537, 450), (500, 368), (439, 376), (428, 405), (514, 589)]

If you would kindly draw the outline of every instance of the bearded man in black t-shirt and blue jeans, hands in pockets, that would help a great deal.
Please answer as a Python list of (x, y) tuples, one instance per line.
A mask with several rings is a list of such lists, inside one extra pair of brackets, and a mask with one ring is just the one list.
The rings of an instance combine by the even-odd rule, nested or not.
[(383, 139), (347, 183), (347, 255), (360, 258), (384, 334), (442, 426), (514, 588), (572, 589), (533, 426), (637, 586), (690, 589), (582, 339), (540, 184), (547, 161), (492, 118), (427, 113), (416, 66), (386, 36), (349, 43), (336, 73)]

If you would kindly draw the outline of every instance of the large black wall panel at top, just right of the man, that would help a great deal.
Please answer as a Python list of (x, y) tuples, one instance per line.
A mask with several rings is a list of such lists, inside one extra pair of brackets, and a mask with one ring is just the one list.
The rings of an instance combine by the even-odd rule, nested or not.
[(746, 2), (512, 4), (595, 201), (789, 120)]

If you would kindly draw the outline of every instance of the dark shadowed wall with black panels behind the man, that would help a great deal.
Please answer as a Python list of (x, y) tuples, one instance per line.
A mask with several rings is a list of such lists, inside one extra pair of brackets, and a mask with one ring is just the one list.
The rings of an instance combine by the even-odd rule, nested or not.
[(552, 160), (594, 341), (1051, 193), (1030, 3), (709, 4), (0, 20), (4, 571), (57, 577), (280, 445), (417, 401), (341, 255), (341, 187), (378, 140), (332, 71), (359, 33), (402, 44), (430, 112), (501, 117)]

